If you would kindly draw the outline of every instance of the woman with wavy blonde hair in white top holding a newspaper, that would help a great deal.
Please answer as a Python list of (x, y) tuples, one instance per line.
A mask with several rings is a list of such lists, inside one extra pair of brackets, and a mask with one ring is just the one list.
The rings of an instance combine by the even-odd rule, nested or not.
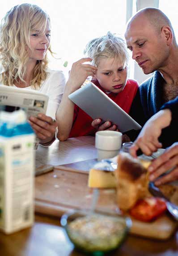
[(16, 5), (1, 21), (0, 84), (37, 90), (49, 96), (47, 115), (40, 113), (29, 119), (40, 144), (45, 146), (55, 140), (55, 113), (65, 85), (61, 71), (47, 68), (50, 43), (50, 18), (37, 5)]

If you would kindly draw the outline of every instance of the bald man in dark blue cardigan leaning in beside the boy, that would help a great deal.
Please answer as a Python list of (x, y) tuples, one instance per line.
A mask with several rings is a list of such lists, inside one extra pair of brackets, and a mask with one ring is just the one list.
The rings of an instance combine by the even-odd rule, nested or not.
[[(129, 113), (143, 126), (165, 102), (178, 96), (178, 45), (170, 20), (155, 8), (145, 8), (136, 13), (127, 23), (125, 38), (132, 58), (143, 72), (154, 72), (140, 86)], [(100, 119), (95, 119), (92, 125), (98, 130), (117, 129), (110, 122), (100, 123)], [(128, 133), (132, 141), (137, 134)], [(160, 138), (162, 146), (174, 143), (177, 138), (174, 135), (177, 136), (176, 132), (170, 136), (169, 128), (166, 128)]]

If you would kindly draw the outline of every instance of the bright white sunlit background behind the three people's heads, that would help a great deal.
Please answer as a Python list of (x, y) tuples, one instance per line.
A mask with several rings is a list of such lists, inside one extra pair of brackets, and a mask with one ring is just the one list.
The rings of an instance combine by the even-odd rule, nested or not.
[[(0, 7), (0, 19), (16, 4), (37, 4), (46, 10), (51, 18), (51, 46), (56, 59), (50, 57), (50, 67), (68, 70), (74, 61), (83, 56), (83, 50), (89, 40), (102, 36), (108, 31), (124, 34), (127, 0), (8, 0)], [(136, 0), (133, 10), (136, 11)], [(149, 1), (148, 1), (149, 2)], [(178, 1), (159, 0), (159, 8), (170, 18), (178, 36)], [(68, 61), (68, 66), (63, 64)], [(134, 66), (131, 66), (131, 69)], [(134, 78), (133, 70), (130, 77)]]

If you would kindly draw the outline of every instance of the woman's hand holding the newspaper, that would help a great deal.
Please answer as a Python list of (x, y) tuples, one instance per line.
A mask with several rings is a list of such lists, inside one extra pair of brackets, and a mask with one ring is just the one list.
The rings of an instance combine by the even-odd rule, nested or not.
[(55, 136), (57, 122), (54, 121), (50, 116), (42, 113), (38, 114), (37, 117), (30, 116), (29, 123), (36, 133), (40, 143), (43, 144), (52, 141)]

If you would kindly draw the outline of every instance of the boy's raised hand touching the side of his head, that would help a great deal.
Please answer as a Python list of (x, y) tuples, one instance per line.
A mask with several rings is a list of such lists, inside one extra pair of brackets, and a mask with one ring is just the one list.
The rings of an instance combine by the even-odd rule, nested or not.
[[(68, 78), (68, 84), (72, 86), (72, 91), (77, 90), (86, 80), (88, 76), (94, 76), (97, 68), (90, 64), (83, 64), (91, 61), (90, 58), (82, 58), (72, 64), (72, 69)], [(71, 91), (71, 92), (72, 92)]]

